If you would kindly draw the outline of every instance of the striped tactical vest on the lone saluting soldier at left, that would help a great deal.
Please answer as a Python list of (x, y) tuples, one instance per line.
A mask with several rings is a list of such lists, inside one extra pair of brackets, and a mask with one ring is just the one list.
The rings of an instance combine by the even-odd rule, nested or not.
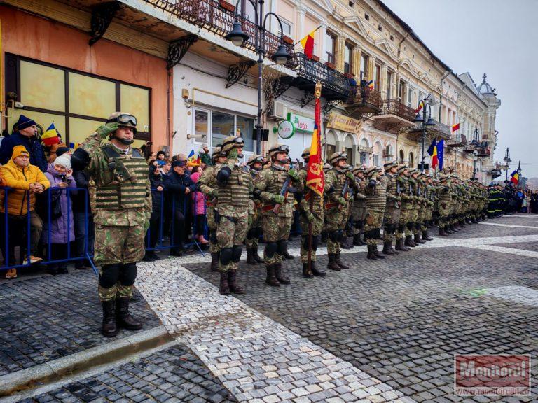
[(122, 210), (144, 207), (147, 193), (148, 163), (137, 150), (120, 154), (110, 145), (101, 150), (108, 163), (95, 190), (95, 208)]

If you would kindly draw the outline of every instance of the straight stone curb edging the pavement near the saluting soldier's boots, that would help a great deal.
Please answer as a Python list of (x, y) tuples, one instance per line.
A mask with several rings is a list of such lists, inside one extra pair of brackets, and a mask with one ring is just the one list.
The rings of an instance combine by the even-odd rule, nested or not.
[(92, 367), (106, 365), (173, 340), (174, 338), (161, 325), (67, 357), (11, 372), (0, 376), (0, 398), (87, 372)]

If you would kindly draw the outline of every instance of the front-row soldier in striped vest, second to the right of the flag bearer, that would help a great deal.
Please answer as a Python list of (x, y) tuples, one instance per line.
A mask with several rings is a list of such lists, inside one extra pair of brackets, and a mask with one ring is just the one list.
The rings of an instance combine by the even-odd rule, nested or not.
[(380, 167), (370, 167), (366, 169), (366, 218), (364, 225), (364, 236), (368, 246), (368, 259), (385, 259), (385, 256), (378, 252), (378, 238), (383, 225), (383, 217), (387, 206), (387, 185), (389, 178), (379, 176)]

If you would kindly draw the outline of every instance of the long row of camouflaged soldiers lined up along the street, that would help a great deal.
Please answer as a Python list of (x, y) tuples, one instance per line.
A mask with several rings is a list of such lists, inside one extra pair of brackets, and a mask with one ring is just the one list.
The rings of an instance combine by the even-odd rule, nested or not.
[[(243, 146), (242, 137), (226, 137), (212, 154), (214, 165), (205, 169), (198, 181), (207, 197), (211, 269), (220, 272), (222, 295), (244, 292), (237, 281), (243, 244), (249, 264), (265, 263), (268, 285), (290, 283), (282, 261), (289, 257), (287, 241), (296, 211), (305, 278), (326, 276), (316, 264), (322, 232), (327, 238), (327, 269), (340, 271), (349, 269), (340, 260), (340, 245), (346, 235), (353, 237), (354, 245), (366, 243), (368, 259), (383, 259), (396, 255), (396, 250), (407, 251), (431, 240), (428, 229), (434, 219), (441, 236), (485, 219), (487, 190), (457, 176), (441, 174), (434, 179), (396, 162), (385, 164), (382, 173), (379, 167), (352, 167), (345, 153), (333, 153), (324, 167), (322, 197), (306, 184), (309, 148), (303, 151), (305, 164), (298, 170), (290, 167), (288, 146), (278, 143), (269, 148), (266, 160), (252, 155), (243, 166)], [(263, 260), (258, 255), (261, 236), (265, 242)]]

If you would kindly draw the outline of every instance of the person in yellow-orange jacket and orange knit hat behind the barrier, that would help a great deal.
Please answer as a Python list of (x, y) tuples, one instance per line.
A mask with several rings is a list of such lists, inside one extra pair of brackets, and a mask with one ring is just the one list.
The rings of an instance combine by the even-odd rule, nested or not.
[[(8, 236), (12, 240), (10, 250), (6, 248), (6, 228), (5, 218), (0, 218), (0, 249), (4, 255), (4, 261), (8, 264), (12, 264), (13, 261), (13, 246), (15, 245), (15, 239), (17, 234), (20, 234), (21, 229), (26, 228), (27, 214), (30, 216), (30, 262), (40, 262), (39, 257), (35, 257), (37, 243), (41, 237), (41, 231), (43, 229), (43, 221), (39, 218), (34, 206), (36, 204), (36, 194), (43, 193), (50, 187), (50, 182), (47, 177), (41, 172), (41, 170), (30, 165), (30, 155), (25, 146), (13, 147), (13, 154), (11, 159), (2, 167), (0, 167), (0, 184), (8, 188), (13, 188), (7, 192), (7, 213), (8, 213)], [(5, 211), (4, 197), (6, 190), (0, 192), (0, 211)], [(28, 211), (28, 199), (29, 199), (29, 211)], [(24, 243), (26, 245), (26, 243)], [(24, 246), (24, 245), (23, 245)], [(25, 257), (27, 260), (27, 257)], [(17, 270), (9, 269), (6, 278), (16, 278)]]

